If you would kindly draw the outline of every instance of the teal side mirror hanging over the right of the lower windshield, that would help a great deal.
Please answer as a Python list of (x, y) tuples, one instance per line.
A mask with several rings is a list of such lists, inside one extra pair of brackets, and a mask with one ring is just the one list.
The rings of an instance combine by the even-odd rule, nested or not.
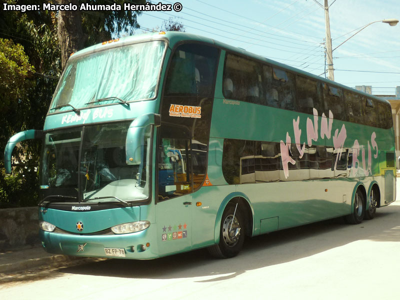
[(142, 114), (132, 121), (126, 133), (125, 153), (126, 164), (140, 164), (141, 149), (144, 145), (144, 132), (147, 126), (161, 124), (161, 116), (155, 113)]

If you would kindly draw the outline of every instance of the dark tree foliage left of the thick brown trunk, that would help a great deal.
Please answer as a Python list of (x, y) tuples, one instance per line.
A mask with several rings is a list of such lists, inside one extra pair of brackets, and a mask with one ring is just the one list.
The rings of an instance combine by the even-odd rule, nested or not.
[[(10, 4), (41, 4), (15, 1)], [(43, 127), (52, 92), (60, 74), (55, 14), (49, 11), (0, 10), (0, 148), (15, 133)], [(5, 62), (5, 65), (3, 64)], [(14, 66), (14, 68), (9, 68)], [(3, 68), (7, 71), (4, 73)], [(6, 76), (13, 76), (6, 77)], [(14, 84), (10, 86), (10, 84)], [(41, 143), (23, 142), (14, 148), (12, 175), (4, 175), (0, 155), (0, 207), (37, 203), (38, 159)]]

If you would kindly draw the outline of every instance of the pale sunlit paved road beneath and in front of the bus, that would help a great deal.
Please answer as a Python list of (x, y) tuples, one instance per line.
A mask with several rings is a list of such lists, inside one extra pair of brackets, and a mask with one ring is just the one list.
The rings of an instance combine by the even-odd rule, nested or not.
[[(398, 189), (397, 189), (398, 190)], [(329, 220), (258, 236), (231, 259), (197, 250), (24, 275), (1, 299), (398, 299), (400, 202), (373, 220)]]

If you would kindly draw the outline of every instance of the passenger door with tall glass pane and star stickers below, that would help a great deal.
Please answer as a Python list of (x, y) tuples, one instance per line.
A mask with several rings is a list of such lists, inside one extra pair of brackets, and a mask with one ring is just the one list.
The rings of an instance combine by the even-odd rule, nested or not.
[(157, 142), (156, 222), (159, 254), (191, 249), (191, 138), (162, 124)]

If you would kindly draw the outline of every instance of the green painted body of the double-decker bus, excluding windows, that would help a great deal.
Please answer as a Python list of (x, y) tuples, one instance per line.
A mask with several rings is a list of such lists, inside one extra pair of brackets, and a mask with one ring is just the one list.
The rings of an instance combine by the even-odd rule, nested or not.
[[(301, 130), (300, 144), (307, 143), (306, 122), (307, 118), (313, 121), (313, 115), (244, 101), (227, 101), (222, 92), (226, 51), (246, 55), (289, 71), (301, 71), (208, 38), (173, 32), (167, 32), (165, 35), (152, 34), (149, 37), (121, 38), (114, 42), (115, 45), (96, 45), (74, 55), (86, 55), (94, 53), (102, 47), (116, 47), (143, 38), (161, 39), (168, 42), (159, 77), (160, 83), (157, 85), (154, 99), (130, 102), (128, 106), (113, 103), (84, 108), (81, 109), (80, 117), (70, 110), (49, 111), (44, 124), (44, 132), (90, 124), (101, 126), (119, 120), (133, 120), (146, 113), (160, 113), (163, 82), (172, 49), (182, 41), (206, 43), (220, 50), (207, 150), (206, 175), (210, 184), (204, 186), (204, 178), (201, 183), (203, 186), (192, 192), (164, 201), (157, 200), (155, 153), (158, 151), (157, 134), (163, 125), (152, 126), (149, 200), (140, 205), (133, 204), (132, 207), (114, 207), (94, 211), (66, 211), (57, 209), (51, 203), (44, 203), (39, 207), (39, 219), (52, 223), (59, 229), (56, 232), (40, 230), (42, 244), (47, 251), (67, 255), (113, 257), (105, 255), (104, 248), (124, 248), (124, 258), (149, 259), (210, 246), (219, 242), (219, 228), (225, 206), (230, 200), (237, 198), (243, 199), (248, 204), (247, 217), (251, 224), (248, 231), (252, 236), (350, 214), (353, 209), (355, 190), (359, 185), (365, 188), (369, 196), (372, 184), (377, 184), (381, 195), (380, 206), (387, 205), (394, 200), (394, 185), (387, 185), (387, 183), (385, 185), (385, 176), (386, 180), (392, 181), (395, 177), (395, 168), (392, 165), (387, 167), (386, 163), (386, 152), (394, 153), (393, 129), (372, 128), (333, 119), (330, 138), (326, 136), (322, 138), (320, 113), (317, 117), (318, 138), (316, 141), (312, 141), (312, 144), (333, 147), (333, 135), (336, 129), (339, 132), (344, 125), (346, 128), (344, 148), (352, 148), (354, 141), (357, 140), (359, 145), (363, 146), (365, 157), (368, 156), (368, 144), (371, 145), (370, 154), (377, 154), (376, 158), (372, 157), (371, 159), (371, 172), (368, 176), (364, 174), (362, 152), (360, 151), (357, 172), (353, 175), (349, 171), (345, 177), (290, 181), (290, 175), (293, 172), (289, 170), (289, 176), (285, 180), (228, 184), (221, 167), (224, 139), (286, 143), (288, 135), (294, 142), (293, 120), (298, 117), (298, 126)], [(301, 73), (348, 89), (314, 75)], [(384, 102), (384, 100), (379, 101)], [(161, 120), (162, 117), (161, 115)], [(375, 132), (376, 135), (374, 140), (377, 150), (372, 146), (372, 132)], [(282, 175), (282, 170), (280, 172)], [(81, 204), (89, 205), (84, 202)], [(101, 203), (90, 203), (92, 207), (96, 205), (101, 205)], [(149, 221), (150, 226), (135, 233), (101, 233), (102, 230), (114, 225), (139, 220)], [(83, 230), (80, 232), (76, 231), (78, 221), (84, 224)], [(176, 236), (174, 236), (175, 233)], [(148, 245), (143, 247), (146, 243)]]

